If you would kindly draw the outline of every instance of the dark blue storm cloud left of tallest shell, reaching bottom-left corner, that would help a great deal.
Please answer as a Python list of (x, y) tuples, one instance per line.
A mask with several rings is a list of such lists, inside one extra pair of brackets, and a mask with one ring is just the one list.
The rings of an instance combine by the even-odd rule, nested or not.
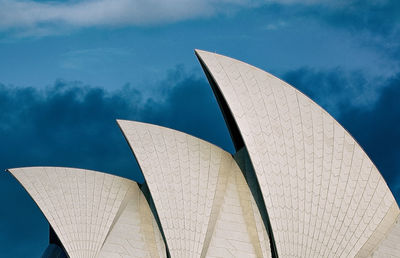
[[(112, 92), (80, 82), (58, 81), (45, 90), (0, 85), (0, 169), (80, 167), (141, 181), (117, 118), (176, 128), (231, 148), (205, 79), (177, 68), (159, 88), (165, 89), (159, 99), (145, 99), (130, 85)], [(47, 245), (46, 220), (8, 173), (0, 174), (0, 201), (6, 221), (0, 223), (0, 257), (39, 257)]]

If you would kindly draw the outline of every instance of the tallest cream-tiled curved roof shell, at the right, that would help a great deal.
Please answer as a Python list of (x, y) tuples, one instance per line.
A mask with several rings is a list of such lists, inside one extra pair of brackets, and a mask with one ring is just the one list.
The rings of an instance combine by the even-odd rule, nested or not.
[[(351, 135), (325, 110), (246, 63), (196, 50), (248, 149), (280, 257), (352, 257), (399, 208)], [(389, 214), (389, 216), (386, 216)], [(380, 227), (383, 228), (383, 227)]]

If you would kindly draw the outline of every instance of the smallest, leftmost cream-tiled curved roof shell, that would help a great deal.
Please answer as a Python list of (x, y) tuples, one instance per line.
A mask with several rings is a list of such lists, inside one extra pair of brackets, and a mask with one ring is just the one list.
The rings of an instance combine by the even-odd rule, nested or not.
[(60, 167), (9, 169), (70, 257), (165, 257), (154, 217), (134, 181)]

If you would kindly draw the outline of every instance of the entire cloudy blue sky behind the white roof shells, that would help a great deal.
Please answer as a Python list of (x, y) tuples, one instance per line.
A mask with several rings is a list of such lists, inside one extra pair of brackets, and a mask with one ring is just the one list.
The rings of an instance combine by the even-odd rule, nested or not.
[[(0, 0), (0, 170), (143, 180), (115, 119), (233, 151), (195, 48), (271, 72), (356, 138), (400, 200), (400, 2)], [(0, 173), (0, 256), (39, 257), (45, 218)]]

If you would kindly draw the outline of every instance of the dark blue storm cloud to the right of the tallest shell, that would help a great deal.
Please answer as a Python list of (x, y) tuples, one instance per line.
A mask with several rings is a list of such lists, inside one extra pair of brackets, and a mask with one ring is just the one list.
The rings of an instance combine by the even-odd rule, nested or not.
[[(284, 78), (324, 107), (351, 133), (399, 202), (400, 73), (389, 79), (369, 81), (361, 72), (303, 68), (287, 73)], [(379, 91), (371, 91), (372, 88)]]

